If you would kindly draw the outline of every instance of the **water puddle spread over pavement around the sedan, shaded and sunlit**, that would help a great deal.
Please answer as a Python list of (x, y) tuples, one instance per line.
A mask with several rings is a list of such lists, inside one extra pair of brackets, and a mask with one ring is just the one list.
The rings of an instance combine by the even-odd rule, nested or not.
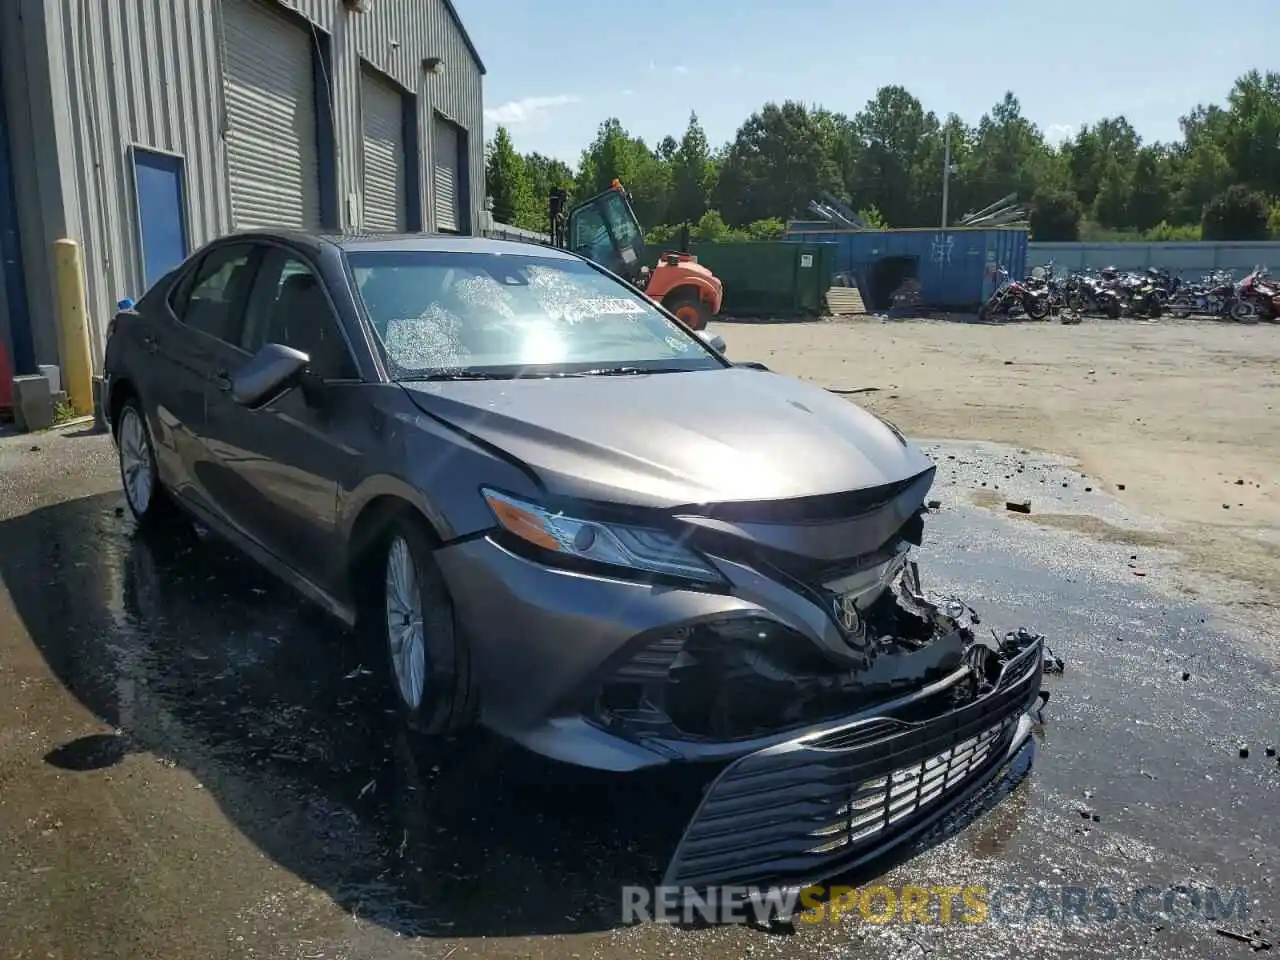
[[(485, 735), (407, 744), (355, 637), (212, 540), (136, 536), (118, 504), (95, 497), (0, 525), (0, 571), (22, 620), (0, 628), (28, 632), (59, 681), (119, 730), (60, 745), (50, 764), (99, 776), (141, 753), (182, 767), (271, 860), (389, 933), (614, 929), (621, 886), (655, 882), (698, 781), (588, 774)], [(1265, 812), (1280, 767), (1263, 746), (1280, 737), (1275, 677), (1208, 612), (1128, 577), (1128, 553), (965, 504), (931, 515), (925, 586), (965, 596), (1000, 632), (1047, 634), (1066, 673), (1047, 681), (1029, 774), (995, 785), (913, 859), (878, 865), (887, 882), (1164, 888), (1192, 878), (1245, 886), (1257, 916), (1274, 914), (1280, 850)], [(1242, 741), (1254, 745), (1247, 760)], [(1148, 928), (1033, 933), (1064, 955), (1093, 955), (1117, 937), (1140, 946)], [(1004, 956), (1028, 932), (934, 934)], [(620, 954), (682, 942), (690, 955), (760, 945), (828, 956), (909, 950), (920, 936), (865, 924), (781, 940), (614, 934)], [(1204, 931), (1192, 946), (1181, 936), (1157, 941), (1164, 956), (1216, 948)]]

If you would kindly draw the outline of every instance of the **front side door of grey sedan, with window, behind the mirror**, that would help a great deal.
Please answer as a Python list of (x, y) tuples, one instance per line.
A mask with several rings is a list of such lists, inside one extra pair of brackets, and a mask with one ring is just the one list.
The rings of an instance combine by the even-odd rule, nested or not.
[(294, 347), (311, 362), (293, 389), (260, 407), (236, 403), (225, 381), (211, 385), (207, 431), (219, 483), (236, 490), (227, 509), (237, 526), (330, 589), (342, 572), (338, 490), (355, 481), (360, 460), (343, 440), (360, 378), (319, 271), (292, 248), (264, 255), (248, 298), (243, 357), (266, 343)]

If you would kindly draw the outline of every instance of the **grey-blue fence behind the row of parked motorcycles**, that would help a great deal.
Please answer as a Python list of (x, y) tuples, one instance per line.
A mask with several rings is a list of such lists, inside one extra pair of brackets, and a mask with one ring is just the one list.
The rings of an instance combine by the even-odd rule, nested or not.
[(1213, 270), (1247, 273), (1254, 266), (1280, 268), (1280, 242), (1171, 242), (1171, 243), (1037, 243), (1032, 241), (1027, 251), (1027, 266), (1043, 266), (1050, 260), (1055, 269), (1146, 270), (1164, 268), (1187, 279), (1196, 279)]

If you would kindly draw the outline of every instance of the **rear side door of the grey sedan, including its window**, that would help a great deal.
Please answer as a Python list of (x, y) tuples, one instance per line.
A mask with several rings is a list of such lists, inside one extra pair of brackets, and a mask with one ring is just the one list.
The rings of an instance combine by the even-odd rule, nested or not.
[(143, 402), (165, 483), (198, 507), (212, 507), (205, 481), (205, 392), (223, 352), (241, 335), (244, 298), (256, 268), (252, 246), (216, 246), (200, 256), (148, 314)]

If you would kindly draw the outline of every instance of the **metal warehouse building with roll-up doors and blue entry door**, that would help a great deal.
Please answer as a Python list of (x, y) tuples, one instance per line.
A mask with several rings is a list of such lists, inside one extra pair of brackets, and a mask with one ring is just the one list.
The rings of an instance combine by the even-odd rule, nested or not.
[(470, 233), (484, 65), (449, 0), (0, 0), (0, 337), (56, 364), (81, 244), (114, 305), (233, 229)]

